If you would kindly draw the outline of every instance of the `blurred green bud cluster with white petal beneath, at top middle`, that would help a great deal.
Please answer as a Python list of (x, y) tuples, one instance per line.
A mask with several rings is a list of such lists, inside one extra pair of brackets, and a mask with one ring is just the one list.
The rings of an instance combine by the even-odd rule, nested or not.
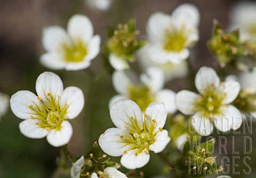
[(144, 41), (137, 39), (139, 31), (135, 29), (135, 21), (119, 24), (108, 39), (107, 48), (110, 53), (109, 62), (115, 70), (129, 69), (129, 62), (133, 62), (134, 52), (144, 45)]

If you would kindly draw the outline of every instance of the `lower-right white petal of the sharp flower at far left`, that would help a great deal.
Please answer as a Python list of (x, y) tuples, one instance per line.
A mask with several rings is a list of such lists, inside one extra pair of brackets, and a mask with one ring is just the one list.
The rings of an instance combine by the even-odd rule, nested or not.
[(63, 121), (60, 130), (50, 130), (47, 135), (47, 141), (53, 147), (61, 147), (67, 144), (73, 134), (73, 128), (68, 121)]

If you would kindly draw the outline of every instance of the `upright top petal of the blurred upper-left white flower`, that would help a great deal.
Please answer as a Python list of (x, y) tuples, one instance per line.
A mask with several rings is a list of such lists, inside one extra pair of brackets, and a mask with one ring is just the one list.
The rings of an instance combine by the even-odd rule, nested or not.
[(73, 15), (68, 21), (68, 35), (73, 39), (81, 39), (87, 43), (93, 35), (91, 20), (85, 15)]

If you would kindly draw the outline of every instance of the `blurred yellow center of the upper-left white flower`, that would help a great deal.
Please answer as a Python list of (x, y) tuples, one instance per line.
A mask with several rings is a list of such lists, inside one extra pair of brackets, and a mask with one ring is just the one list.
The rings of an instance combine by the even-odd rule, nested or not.
[(84, 57), (87, 55), (86, 45), (82, 40), (77, 40), (71, 45), (63, 45), (65, 60), (69, 62), (81, 62), (84, 60)]

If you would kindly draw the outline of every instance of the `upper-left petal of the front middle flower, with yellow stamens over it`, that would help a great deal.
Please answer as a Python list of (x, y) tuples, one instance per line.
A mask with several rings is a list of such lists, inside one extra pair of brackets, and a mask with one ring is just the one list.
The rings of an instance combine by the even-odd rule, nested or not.
[[(140, 131), (143, 128), (142, 112), (138, 104), (132, 100), (115, 101), (110, 107), (110, 117), (116, 127), (128, 133), (130, 130), (137, 132), (135, 127)], [(133, 119), (130, 119), (131, 117)]]

